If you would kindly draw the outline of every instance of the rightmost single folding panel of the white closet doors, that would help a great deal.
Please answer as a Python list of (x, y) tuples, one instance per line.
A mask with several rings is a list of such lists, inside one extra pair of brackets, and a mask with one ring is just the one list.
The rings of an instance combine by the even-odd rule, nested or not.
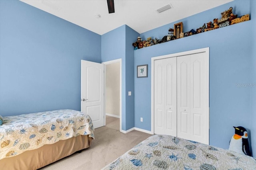
[(209, 144), (209, 63), (205, 53), (190, 55), (191, 60), (191, 140)]

